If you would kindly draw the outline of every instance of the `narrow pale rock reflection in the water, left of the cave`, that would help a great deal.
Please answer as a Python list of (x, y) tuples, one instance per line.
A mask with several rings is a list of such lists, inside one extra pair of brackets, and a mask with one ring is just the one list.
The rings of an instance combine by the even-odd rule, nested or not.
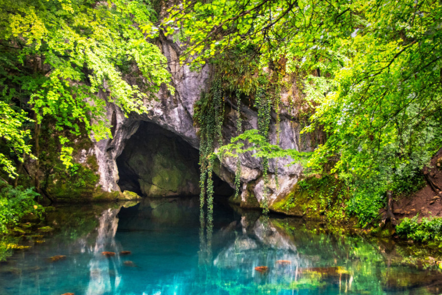
[[(115, 243), (118, 227), (118, 209), (104, 210), (99, 218), (98, 236), (92, 248), (93, 257), (89, 262), (90, 280), (86, 290), (87, 295), (115, 294), (118, 290), (121, 275), (119, 274), (119, 250)], [(111, 251), (115, 256), (103, 259), (103, 251)]]

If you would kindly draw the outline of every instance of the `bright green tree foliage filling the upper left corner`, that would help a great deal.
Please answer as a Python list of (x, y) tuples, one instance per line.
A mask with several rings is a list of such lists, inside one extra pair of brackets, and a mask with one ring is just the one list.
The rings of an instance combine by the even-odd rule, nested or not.
[(170, 78), (166, 58), (138, 28), (152, 20), (142, 0), (0, 1), (0, 135), (8, 147), (0, 165), (9, 177), (31, 152), (38, 157), (42, 120), (53, 122), (69, 166), (70, 138), (84, 130), (95, 140), (111, 136), (106, 101), (145, 110), (143, 99)]

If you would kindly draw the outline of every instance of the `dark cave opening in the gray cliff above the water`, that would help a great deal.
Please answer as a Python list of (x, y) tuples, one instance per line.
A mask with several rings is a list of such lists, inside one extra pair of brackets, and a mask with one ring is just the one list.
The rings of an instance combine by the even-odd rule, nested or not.
[[(121, 191), (143, 197), (199, 195), (199, 152), (181, 137), (157, 124), (141, 122), (116, 159)], [(214, 174), (214, 192), (234, 190)]]

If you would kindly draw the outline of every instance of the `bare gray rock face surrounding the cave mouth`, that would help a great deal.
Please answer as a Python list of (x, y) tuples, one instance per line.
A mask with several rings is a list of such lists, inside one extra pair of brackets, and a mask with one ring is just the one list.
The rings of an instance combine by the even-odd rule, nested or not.
[[(187, 65), (180, 66), (177, 62), (180, 48), (172, 40), (162, 37), (158, 45), (168, 60), (169, 70), (172, 74), (172, 85), (176, 89), (175, 94), (171, 95), (166, 87), (162, 87), (156, 94), (158, 99), (145, 101), (148, 112), (142, 115), (129, 114), (128, 117), (125, 117), (118, 107), (113, 104), (107, 105), (107, 118), (114, 125), (112, 128), (113, 138), (94, 143), (94, 152), (99, 165), (99, 185), (103, 191), (120, 191), (116, 158), (122, 153), (127, 140), (138, 130), (140, 121), (152, 122), (173, 132), (193, 148), (199, 146), (197, 129), (193, 124), (193, 105), (200, 98), (201, 90), (208, 89), (210, 66), (206, 64), (199, 72), (193, 72)], [(287, 93), (281, 94), (283, 106), (286, 96)], [(244, 118), (243, 129), (257, 128), (257, 113), (246, 105), (241, 105), (240, 111)], [(228, 143), (230, 138), (236, 134), (236, 111), (226, 107), (225, 113), (226, 118), (222, 129), (224, 144)], [(282, 148), (308, 151), (309, 138), (304, 138), (303, 144), (300, 144), (300, 127), (292, 116), (296, 116), (293, 111), (289, 112), (287, 108), (281, 108), (279, 145)], [(272, 114), (272, 121), (270, 139), (273, 144), (276, 144), (275, 113)], [(272, 179), (269, 184), (270, 204), (277, 196), (287, 194), (290, 187), (298, 181), (302, 167), (297, 164), (287, 166), (291, 161), (291, 159), (279, 159), (277, 165), (276, 161), (269, 162), (269, 173)], [(254, 197), (260, 201), (264, 186), (261, 160), (251, 154), (244, 154), (241, 156), (241, 163), (243, 187), (247, 185), (249, 193), (252, 192)], [(219, 169), (215, 172), (233, 187), (235, 170), (236, 160), (224, 158)], [(278, 188), (275, 184), (275, 173), (278, 174)], [(245, 194), (246, 190), (243, 190), (243, 200), (246, 198)]]

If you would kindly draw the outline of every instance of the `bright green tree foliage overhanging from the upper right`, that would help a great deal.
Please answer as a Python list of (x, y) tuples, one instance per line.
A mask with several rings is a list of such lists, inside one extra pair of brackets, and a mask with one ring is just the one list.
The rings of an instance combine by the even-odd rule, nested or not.
[(183, 1), (169, 12), (160, 29), (185, 36), (187, 61), (253, 45), (256, 68), (304, 74), (315, 106), (304, 132), (327, 134), (306, 173), (345, 181), (361, 222), (387, 192), (414, 189), (442, 145), (439, 1)]

